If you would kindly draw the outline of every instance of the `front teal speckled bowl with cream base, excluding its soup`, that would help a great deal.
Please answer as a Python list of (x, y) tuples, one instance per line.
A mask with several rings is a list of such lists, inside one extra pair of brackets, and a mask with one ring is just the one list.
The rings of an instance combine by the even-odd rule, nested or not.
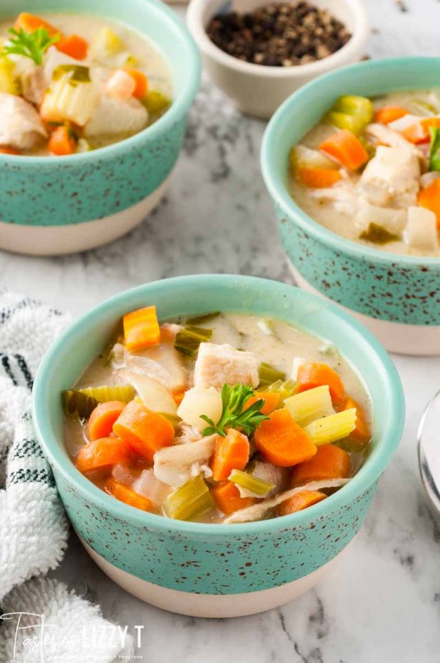
[[(362, 376), (374, 410), (371, 453), (341, 490), (309, 509), (244, 525), (168, 520), (133, 509), (80, 474), (65, 450), (60, 392), (75, 383), (127, 311), (155, 304), (159, 319), (243, 311), (284, 319), (336, 344)], [(274, 281), (198, 275), (146, 284), (75, 322), (47, 353), (34, 385), (36, 434), (70, 520), (98, 565), (159, 607), (205, 617), (270, 609), (314, 585), (362, 525), (399, 443), (404, 399), (382, 346), (333, 304)]]

